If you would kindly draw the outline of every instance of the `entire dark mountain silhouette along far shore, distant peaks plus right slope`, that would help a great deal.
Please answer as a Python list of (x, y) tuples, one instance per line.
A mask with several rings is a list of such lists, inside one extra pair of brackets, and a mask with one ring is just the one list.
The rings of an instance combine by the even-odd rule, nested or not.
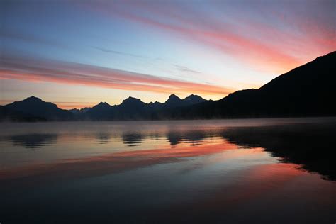
[(128, 97), (119, 105), (64, 110), (35, 96), (0, 106), (2, 121), (161, 120), (336, 116), (336, 51), (292, 69), (259, 89), (235, 91), (218, 101), (172, 94), (164, 103)]

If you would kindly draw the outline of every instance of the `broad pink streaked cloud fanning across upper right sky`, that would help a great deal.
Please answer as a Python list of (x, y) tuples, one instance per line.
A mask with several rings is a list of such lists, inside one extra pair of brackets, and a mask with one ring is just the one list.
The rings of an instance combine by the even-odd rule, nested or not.
[(336, 16), (327, 10), (329, 4), (330, 1), (307, 1), (303, 12), (301, 4), (284, 3), (280, 7), (257, 1), (200, 1), (196, 5), (203, 10), (184, 1), (128, 1), (90, 9), (109, 18), (119, 16), (163, 31), (167, 36), (178, 35), (254, 69), (281, 74), (335, 50)]

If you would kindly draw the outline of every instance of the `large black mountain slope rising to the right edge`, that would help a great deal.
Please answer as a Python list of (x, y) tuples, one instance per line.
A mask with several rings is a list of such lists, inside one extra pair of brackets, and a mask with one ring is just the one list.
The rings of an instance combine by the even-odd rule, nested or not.
[(292, 69), (259, 89), (170, 112), (167, 118), (335, 116), (336, 52)]

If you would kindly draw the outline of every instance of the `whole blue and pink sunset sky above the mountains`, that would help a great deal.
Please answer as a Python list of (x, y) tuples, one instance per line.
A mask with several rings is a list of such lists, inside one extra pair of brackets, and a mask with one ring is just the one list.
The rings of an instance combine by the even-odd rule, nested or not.
[(335, 0), (3, 0), (0, 17), (1, 105), (217, 100), (336, 50)]

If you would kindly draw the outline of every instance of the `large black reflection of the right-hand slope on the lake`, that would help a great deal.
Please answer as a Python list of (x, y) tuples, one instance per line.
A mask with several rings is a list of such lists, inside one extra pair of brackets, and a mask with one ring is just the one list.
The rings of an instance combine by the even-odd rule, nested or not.
[(229, 128), (223, 138), (242, 147), (263, 147), (281, 162), (336, 180), (335, 124)]

